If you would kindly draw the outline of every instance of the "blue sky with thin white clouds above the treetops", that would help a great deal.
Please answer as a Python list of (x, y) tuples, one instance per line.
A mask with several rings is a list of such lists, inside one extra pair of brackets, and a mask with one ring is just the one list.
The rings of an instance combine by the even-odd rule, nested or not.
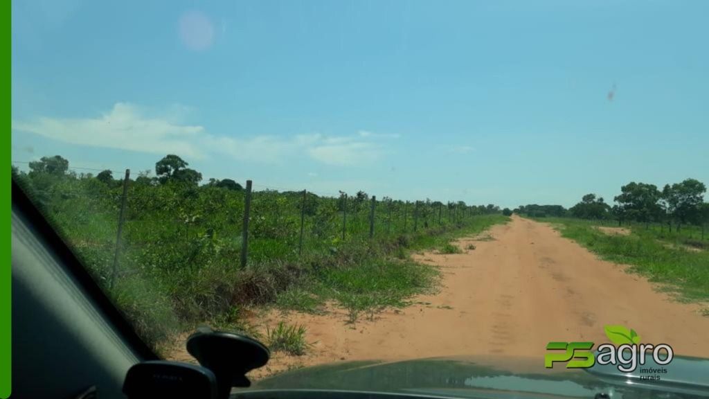
[[(13, 160), (403, 200), (709, 184), (709, 2), (13, 1)], [(609, 93), (613, 92), (612, 99)]]

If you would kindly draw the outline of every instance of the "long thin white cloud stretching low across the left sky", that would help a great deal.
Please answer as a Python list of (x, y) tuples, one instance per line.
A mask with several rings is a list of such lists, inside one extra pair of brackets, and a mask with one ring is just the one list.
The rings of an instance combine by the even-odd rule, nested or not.
[(81, 146), (160, 155), (174, 153), (186, 158), (206, 158), (218, 153), (256, 163), (283, 163), (306, 155), (320, 163), (341, 166), (376, 162), (384, 154), (376, 138), (393, 137), (371, 132), (362, 134), (362, 131), (350, 136), (321, 133), (223, 136), (209, 133), (200, 125), (184, 124), (186, 115), (193, 111), (189, 106), (173, 104), (160, 117), (145, 116), (140, 107), (119, 102), (96, 118), (40, 117), (32, 121), (13, 121), (12, 128)]

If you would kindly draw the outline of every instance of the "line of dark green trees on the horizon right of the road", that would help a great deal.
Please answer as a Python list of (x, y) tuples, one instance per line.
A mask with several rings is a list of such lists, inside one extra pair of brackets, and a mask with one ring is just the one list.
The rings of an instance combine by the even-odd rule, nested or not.
[(656, 185), (630, 182), (620, 187), (620, 194), (613, 197), (611, 206), (603, 197), (593, 193), (581, 197), (573, 207), (561, 205), (523, 205), (513, 210), (531, 217), (576, 217), (579, 219), (610, 219), (618, 224), (625, 222), (662, 223), (669, 229), (693, 224), (709, 223), (709, 203), (704, 202), (706, 185), (688, 178), (682, 182), (666, 184), (660, 190)]

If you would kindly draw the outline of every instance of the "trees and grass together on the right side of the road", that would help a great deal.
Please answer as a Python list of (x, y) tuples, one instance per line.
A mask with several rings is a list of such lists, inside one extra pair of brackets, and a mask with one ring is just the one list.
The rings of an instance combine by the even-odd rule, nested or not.
[(686, 179), (657, 186), (630, 182), (620, 187), (613, 207), (584, 195), (570, 209), (526, 205), (514, 212), (552, 223), (601, 258), (630, 265), (630, 271), (664, 288), (679, 300), (709, 302), (709, 204), (706, 187)]

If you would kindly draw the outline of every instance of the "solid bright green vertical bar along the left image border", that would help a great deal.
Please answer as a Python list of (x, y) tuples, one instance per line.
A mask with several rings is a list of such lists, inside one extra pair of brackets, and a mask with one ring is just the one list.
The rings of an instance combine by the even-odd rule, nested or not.
[[(6, 131), (3, 133), (5, 138), (3, 142), (5, 143), (2, 148), (2, 158), (5, 158), (5, 168), (9, 168), (12, 165), (12, 96), (10, 94), (12, 75), (11, 75), (11, 38), (12, 38), (12, 7), (10, 1), (4, 1), (3, 6), (0, 11), (2, 16), (1, 23), (4, 26), (2, 30), (2, 62), (0, 64), (4, 68), (2, 85), (3, 88), (0, 92), (4, 93), (2, 97), (2, 119), (3, 124), (6, 126)], [(9, 398), (11, 390), (11, 367), (12, 367), (12, 341), (11, 341), (11, 312), (12, 308), (10, 305), (11, 300), (11, 270), (12, 270), (12, 259), (10, 251), (12, 251), (12, 201), (11, 201), (11, 191), (12, 191), (12, 178), (9, 170), (5, 170), (5, 173), (0, 173), (2, 176), (2, 208), (5, 209), (2, 212), (2, 225), (5, 226), (3, 229), (2, 239), (2, 253), (5, 259), (0, 263), (0, 398)]]

